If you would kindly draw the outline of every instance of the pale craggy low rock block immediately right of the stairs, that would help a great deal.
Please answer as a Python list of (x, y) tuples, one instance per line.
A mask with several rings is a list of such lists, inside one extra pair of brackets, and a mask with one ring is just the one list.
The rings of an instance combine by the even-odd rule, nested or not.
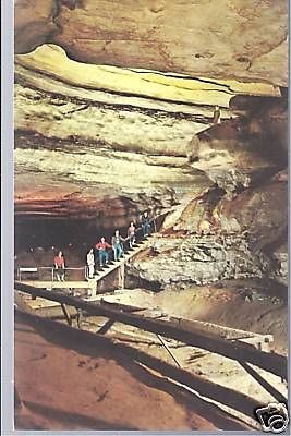
[(270, 263), (254, 255), (240, 234), (155, 238), (148, 258), (134, 262), (131, 274), (148, 282), (167, 286), (205, 284), (218, 280), (263, 278)]

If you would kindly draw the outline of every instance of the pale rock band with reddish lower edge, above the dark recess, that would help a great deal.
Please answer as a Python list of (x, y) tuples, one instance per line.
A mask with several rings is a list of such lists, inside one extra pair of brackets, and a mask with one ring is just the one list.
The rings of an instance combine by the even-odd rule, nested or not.
[[(38, 138), (38, 147), (39, 147)], [(177, 167), (177, 158), (134, 155), (107, 149), (51, 150), (46, 143), (15, 150), (17, 216), (86, 218), (98, 227), (124, 227), (150, 208), (170, 208), (207, 178)], [(64, 147), (65, 144), (62, 144)]]

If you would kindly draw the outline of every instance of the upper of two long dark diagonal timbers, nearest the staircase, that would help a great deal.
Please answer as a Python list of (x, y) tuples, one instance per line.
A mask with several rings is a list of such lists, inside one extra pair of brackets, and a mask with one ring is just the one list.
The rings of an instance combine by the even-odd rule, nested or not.
[(14, 288), (19, 291), (27, 292), (35, 296), (41, 296), (82, 308), (89, 315), (106, 316), (120, 323), (129, 324), (154, 334), (159, 334), (166, 338), (175, 339), (180, 342), (187, 343), (189, 346), (208, 350), (213, 353), (223, 355), (225, 358), (229, 358), (234, 361), (252, 363), (287, 379), (286, 356), (259, 351), (245, 343), (229, 342), (228, 340), (221, 339), (215, 334), (205, 332), (198, 329), (189, 330), (173, 322), (146, 318), (141, 315), (109, 308), (108, 306), (105, 307), (101, 304), (93, 304), (85, 301), (80, 301), (76, 298), (64, 295), (61, 292), (35, 289), (22, 282), (15, 282)]

